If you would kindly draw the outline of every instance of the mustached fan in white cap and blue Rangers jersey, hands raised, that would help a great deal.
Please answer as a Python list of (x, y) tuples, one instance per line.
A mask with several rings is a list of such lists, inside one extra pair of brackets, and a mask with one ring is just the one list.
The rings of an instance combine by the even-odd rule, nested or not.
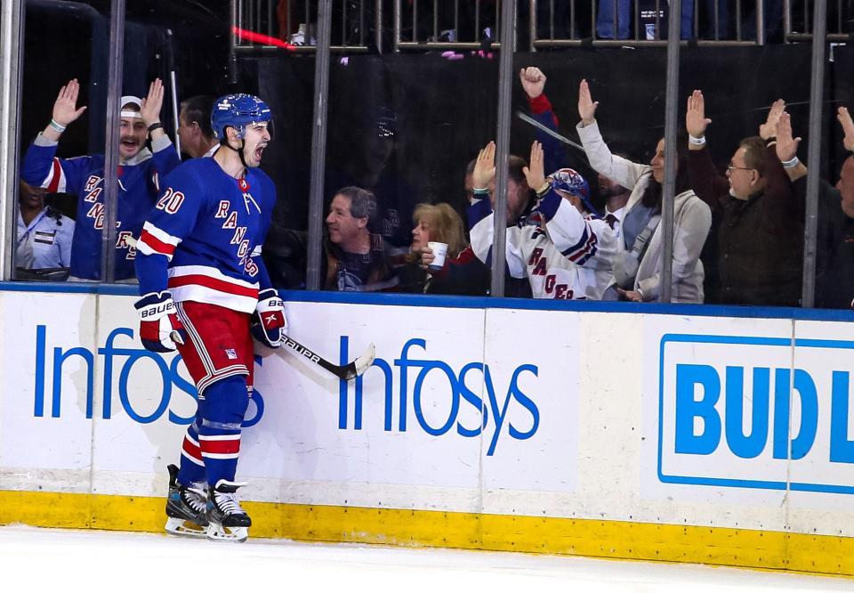
[[(77, 109), (77, 78), (60, 89), (53, 103), (51, 123), (29, 146), (21, 177), (34, 187), (77, 196), (77, 221), (71, 245), (70, 280), (103, 280), (101, 243), (104, 228), (104, 155), (56, 158), (60, 136), (86, 110)], [(163, 84), (157, 78), (145, 99), (121, 99), (121, 138), (118, 144), (118, 199), (116, 280), (134, 278), (136, 249), (142, 221), (157, 198), (158, 175), (166, 175), (181, 162), (160, 124)], [(151, 150), (145, 147), (151, 136)], [(131, 241), (128, 241), (128, 239)]]

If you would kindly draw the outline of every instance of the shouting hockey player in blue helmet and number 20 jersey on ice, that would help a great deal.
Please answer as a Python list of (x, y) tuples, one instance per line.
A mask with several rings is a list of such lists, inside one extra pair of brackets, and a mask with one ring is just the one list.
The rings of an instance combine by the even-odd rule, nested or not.
[(252, 338), (276, 348), (287, 327), (261, 257), (276, 203), (270, 177), (257, 168), (270, 142), (270, 109), (230, 94), (214, 103), (211, 124), (220, 149), (168, 175), (143, 225), (135, 306), (142, 344), (177, 347), (198, 390), (181, 468), (169, 467), (166, 530), (243, 541), (252, 522), (235, 473), (252, 395)]

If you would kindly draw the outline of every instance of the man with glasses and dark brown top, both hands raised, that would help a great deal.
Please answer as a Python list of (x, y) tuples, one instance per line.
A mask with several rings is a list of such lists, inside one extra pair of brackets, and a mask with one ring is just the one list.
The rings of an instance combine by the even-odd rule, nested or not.
[(727, 175), (715, 169), (706, 150), (703, 93), (688, 100), (691, 186), (709, 207), (717, 229), (716, 278), (709, 302), (725, 305), (797, 306), (801, 302), (803, 200), (777, 158), (777, 119), (786, 104), (774, 102), (760, 135), (745, 138), (729, 161)]

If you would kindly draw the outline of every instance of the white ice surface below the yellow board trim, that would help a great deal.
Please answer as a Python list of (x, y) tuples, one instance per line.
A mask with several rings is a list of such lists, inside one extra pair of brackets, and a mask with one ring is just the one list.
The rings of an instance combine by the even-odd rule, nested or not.
[(854, 591), (854, 580), (433, 548), (0, 527), (0, 591)]

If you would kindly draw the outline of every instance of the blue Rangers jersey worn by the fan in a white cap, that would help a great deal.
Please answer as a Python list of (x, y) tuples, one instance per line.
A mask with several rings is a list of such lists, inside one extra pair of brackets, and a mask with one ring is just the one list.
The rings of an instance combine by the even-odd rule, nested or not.
[[(101, 243), (104, 228), (104, 155), (56, 158), (57, 142), (41, 134), (24, 156), (21, 177), (30, 185), (77, 196), (77, 220), (71, 243), (71, 275), (101, 280)], [(135, 275), (136, 249), (128, 238), (140, 236), (142, 222), (157, 198), (158, 175), (166, 175), (181, 160), (168, 140), (155, 142), (154, 153), (143, 149), (119, 167), (116, 280)]]

